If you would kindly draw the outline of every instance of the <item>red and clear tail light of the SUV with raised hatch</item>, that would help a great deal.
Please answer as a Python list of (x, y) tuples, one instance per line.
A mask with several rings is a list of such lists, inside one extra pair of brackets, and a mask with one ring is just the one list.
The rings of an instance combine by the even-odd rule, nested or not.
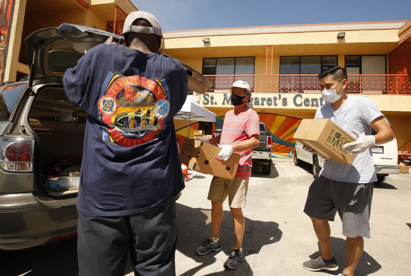
[(0, 167), (11, 172), (32, 172), (33, 152), (33, 139), (1, 137)]

